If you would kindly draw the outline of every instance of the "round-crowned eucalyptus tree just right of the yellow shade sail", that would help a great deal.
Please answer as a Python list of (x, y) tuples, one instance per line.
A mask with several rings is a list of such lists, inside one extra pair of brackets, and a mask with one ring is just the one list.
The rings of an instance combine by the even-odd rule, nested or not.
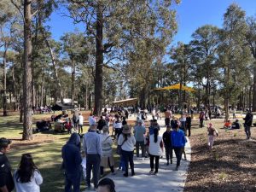
[(216, 60), (219, 41), (217, 26), (201, 26), (192, 34), (190, 42), (193, 54), (194, 74), (200, 79), (200, 84), (205, 88), (204, 104), (210, 107), (210, 93), (212, 83), (218, 74)]

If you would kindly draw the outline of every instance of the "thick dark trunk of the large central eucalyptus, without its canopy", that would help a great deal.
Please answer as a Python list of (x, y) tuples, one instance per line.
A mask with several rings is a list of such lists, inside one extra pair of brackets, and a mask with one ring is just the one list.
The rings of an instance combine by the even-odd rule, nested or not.
[(95, 106), (94, 113), (102, 113), (103, 102), (103, 9), (102, 3), (96, 6), (96, 74), (95, 74)]

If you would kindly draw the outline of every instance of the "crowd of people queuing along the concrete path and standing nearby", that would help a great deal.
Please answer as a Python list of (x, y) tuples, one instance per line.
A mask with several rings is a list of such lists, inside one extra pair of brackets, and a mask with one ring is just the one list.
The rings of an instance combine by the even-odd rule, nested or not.
[[(115, 191), (114, 183), (110, 178), (100, 177), (104, 175), (104, 170), (108, 167), (113, 175), (117, 171), (114, 169), (113, 143), (117, 144), (117, 154), (119, 154), (119, 170), (124, 171), (124, 177), (136, 175), (134, 166), (134, 155), (137, 159), (145, 160), (149, 157), (148, 174), (158, 175), (160, 158), (165, 152), (166, 166), (172, 164), (173, 152), (176, 156), (175, 171), (179, 170), (184, 154), (185, 143), (191, 134), (191, 114), (181, 113), (180, 118), (174, 118), (172, 110), (165, 110), (166, 131), (160, 136), (160, 125), (158, 119), (152, 115), (149, 125), (145, 124), (142, 116), (138, 116), (135, 125), (127, 124), (125, 113), (116, 113), (113, 117), (104, 110), (102, 116), (97, 119), (90, 114), (88, 119), (90, 128), (83, 135), (84, 117), (81, 113), (73, 113), (72, 119), (61, 114), (60, 118), (66, 118), (72, 122), (74, 131), (71, 132), (67, 143), (61, 148), (62, 164), (61, 168), (65, 173), (65, 192), (80, 191), (80, 183), (84, 181), (87, 189), (97, 189), (100, 192)], [(199, 116), (201, 123), (201, 113)], [(205, 117), (202, 117), (205, 120)], [(56, 117), (55, 120), (58, 120)], [(247, 138), (251, 137), (250, 128), (253, 123), (253, 114), (248, 111), (244, 118)], [(110, 122), (112, 122), (112, 134)], [(225, 122), (224, 128), (241, 127), (238, 120), (231, 124)], [(207, 126), (208, 148), (212, 149), (218, 131), (210, 123)], [(16, 192), (40, 191), (40, 184), (43, 177), (34, 164), (32, 154), (22, 154), (20, 164), (12, 175), (9, 160), (6, 154), (9, 152), (11, 141), (0, 138), (0, 191), (10, 192), (14, 188)], [(134, 150), (135, 149), (135, 150)], [(136, 151), (136, 153), (134, 153)], [(140, 153), (141, 152), (141, 153)], [(140, 157), (141, 156), (141, 157)], [(131, 172), (131, 174), (129, 174)], [(93, 187), (91, 186), (93, 183)]]

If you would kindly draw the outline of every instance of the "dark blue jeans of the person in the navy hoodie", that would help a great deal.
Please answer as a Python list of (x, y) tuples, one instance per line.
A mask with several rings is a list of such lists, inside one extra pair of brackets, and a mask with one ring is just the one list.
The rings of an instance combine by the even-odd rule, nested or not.
[(65, 192), (80, 192), (80, 180), (81, 180), (81, 173), (77, 172), (75, 174), (68, 174), (65, 173)]

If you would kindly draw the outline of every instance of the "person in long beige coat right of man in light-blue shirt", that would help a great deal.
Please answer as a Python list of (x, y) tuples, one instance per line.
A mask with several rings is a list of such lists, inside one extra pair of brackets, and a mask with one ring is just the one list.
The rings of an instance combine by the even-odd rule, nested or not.
[(102, 144), (102, 161), (101, 161), (101, 175), (104, 173), (104, 168), (109, 167), (112, 174), (114, 174), (113, 166), (113, 151), (112, 145), (113, 141), (112, 138), (108, 135), (108, 126), (105, 125), (102, 128), (102, 135), (101, 135), (101, 144)]

